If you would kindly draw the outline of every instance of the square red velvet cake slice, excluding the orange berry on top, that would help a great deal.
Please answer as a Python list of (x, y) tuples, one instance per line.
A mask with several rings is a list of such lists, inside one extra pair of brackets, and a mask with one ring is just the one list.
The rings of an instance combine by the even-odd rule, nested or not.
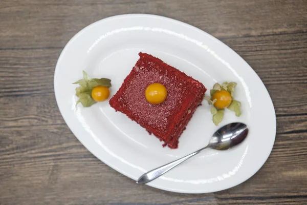
[[(146, 53), (139, 55), (140, 59), (109, 104), (163, 140), (164, 146), (176, 149), (178, 138), (207, 89), (159, 58)], [(153, 105), (146, 100), (145, 89), (152, 83), (160, 83), (167, 89), (167, 97), (161, 104)]]

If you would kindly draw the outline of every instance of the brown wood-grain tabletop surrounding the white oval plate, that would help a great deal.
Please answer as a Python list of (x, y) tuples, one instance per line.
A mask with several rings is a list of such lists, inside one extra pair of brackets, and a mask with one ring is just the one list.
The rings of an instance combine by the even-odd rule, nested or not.
[[(277, 134), (252, 178), (209, 194), (139, 186), (72, 134), (54, 96), (57, 58), (83, 27), (125, 13), (198, 27), (257, 72), (275, 106)], [(307, 204), (306, 99), (304, 0), (1, 0), (0, 204)]]

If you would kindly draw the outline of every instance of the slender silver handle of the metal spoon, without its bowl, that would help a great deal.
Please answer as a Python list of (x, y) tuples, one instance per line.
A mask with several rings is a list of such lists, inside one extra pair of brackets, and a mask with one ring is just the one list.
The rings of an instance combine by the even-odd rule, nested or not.
[(156, 169), (153, 169), (145, 174), (143, 174), (137, 181), (137, 183), (139, 184), (144, 184), (147, 183), (149, 181), (152, 181), (153, 179), (158, 178), (159, 176), (165, 174), (166, 172), (168, 172), (169, 170), (171, 170), (172, 168), (176, 167), (177, 165), (180, 165), (182, 162), (184, 162), (185, 160), (191, 158), (192, 156), (200, 153), (201, 151), (207, 149), (207, 147), (202, 148), (196, 152), (193, 152), (191, 154), (188, 154), (180, 159), (174, 160), (172, 162), (167, 163), (166, 165), (163, 165), (161, 167), (158, 167)]

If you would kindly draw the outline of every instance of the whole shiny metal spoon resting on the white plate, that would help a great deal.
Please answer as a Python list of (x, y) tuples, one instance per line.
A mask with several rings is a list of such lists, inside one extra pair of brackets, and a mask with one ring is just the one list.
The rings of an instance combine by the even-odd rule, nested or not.
[(201, 151), (211, 148), (215, 150), (228, 150), (238, 144), (240, 144), (248, 134), (248, 127), (240, 122), (233, 122), (231, 124), (225, 125), (224, 127), (218, 129), (211, 137), (209, 145), (206, 147), (193, 152), (187, 156), (184, 156), (180, 159), (172, 161), (167, 165), (163, 165), (159, 168), (153, 169), (145, 174), (143, 174), (137, 181), (137, 183), (144, 184), (153, 179), (158, 178), (159, 176), (165, 174), (172, 168), (180, 165), (180, 163), (191, 158), (192, 156), (200, 153)]

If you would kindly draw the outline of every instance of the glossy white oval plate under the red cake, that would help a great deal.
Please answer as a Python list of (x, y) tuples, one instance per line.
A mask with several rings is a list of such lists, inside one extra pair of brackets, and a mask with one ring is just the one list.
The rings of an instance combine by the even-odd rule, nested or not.
[(266, 87), (246, 61), (220, 40), (161, 16), (128, 14), (99, 20), (78, 32), (63, 49), (54, 91), (65, 122), (81, 143), (108, 166), (137, 180), (153, 168), (206, 146), (218, 128), (204, 101), (180, 137), (179, 148), (171, 150), (115, 112), (108, 101), (75, 107), (77, 86), (72, 83), (82, 78), (82, 70), (91, 77), (112, 79), (113, 95), (140, 51), (198, 79), (208, 90), (216, 82), (237, 82), (235, 98), (242, 102), (243, 114), (236, 117), (226, 110), (218, 127), (241, 121), (250, 128), (248, 138), (236, 148), (205, 151), (148, 185), (172, 192), (208, 193), (234, 187), (255, 174), (269, 157), (276, 133), (275, 111)]

